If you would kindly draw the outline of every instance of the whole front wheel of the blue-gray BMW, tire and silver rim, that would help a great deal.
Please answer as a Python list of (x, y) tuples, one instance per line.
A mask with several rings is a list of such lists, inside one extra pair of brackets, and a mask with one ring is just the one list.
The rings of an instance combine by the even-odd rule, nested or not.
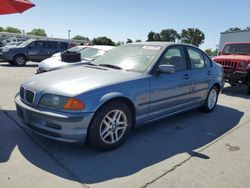
[(98, 110), (88, 131), (90, 146), (101, 150), (112, 150), (127, 138), (132, 127), (132, 113), (120, 101), (108, 103)]

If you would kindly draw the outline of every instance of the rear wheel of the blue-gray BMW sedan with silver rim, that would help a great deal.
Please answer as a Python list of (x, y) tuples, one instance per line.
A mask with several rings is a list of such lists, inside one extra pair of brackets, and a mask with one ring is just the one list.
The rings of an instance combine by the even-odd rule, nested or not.
[(219, 95), (219, 89), (216, 86), (213, 86), (207, 94), (204, 105), (201, 110), (203, 112), (212, 112), (217, 105)]

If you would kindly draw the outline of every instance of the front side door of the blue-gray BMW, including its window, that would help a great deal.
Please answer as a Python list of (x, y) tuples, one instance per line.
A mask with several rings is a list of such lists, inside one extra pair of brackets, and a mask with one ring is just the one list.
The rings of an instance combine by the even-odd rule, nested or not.
[(160, 64), (175, 65), (173, 74), (152, 74), (150, 113), (152, 118), (190, 107), (191, 75), (182, 45), (171, 46), (161, 56)]

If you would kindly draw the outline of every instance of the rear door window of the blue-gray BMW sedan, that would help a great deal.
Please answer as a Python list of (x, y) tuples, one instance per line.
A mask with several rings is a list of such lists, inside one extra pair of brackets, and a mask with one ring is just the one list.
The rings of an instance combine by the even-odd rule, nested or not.
[(187, 47), (187, 50), (188, 50), (188, 55), (190, 57), (191, 68), (192, 69), (205, 68), (205, 61), (202, 52), (192, 47)]

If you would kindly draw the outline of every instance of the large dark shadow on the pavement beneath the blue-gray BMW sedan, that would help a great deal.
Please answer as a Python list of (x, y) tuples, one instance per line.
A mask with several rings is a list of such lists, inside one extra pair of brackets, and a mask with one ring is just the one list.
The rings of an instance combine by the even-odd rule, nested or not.
[[(16, 116), (15, 111), (5, 113), (11, 117)], [(180, 153), (189, 153), (194, 157), (209, 160), (209, 156), (195, 150), (234, 128), (243, 115), (241, 111), (221, 105), (212, 113), (190, 111), (175, 115), (136, 128), (125, 144), (109, 152), (97, 151), (88, 146), (54, 142), (30, 132), (26, 136), (31, 137), (37, 147), (41, 146), (78, 181), (93, 184), (133, 175)], [(19, 126), (24, 127), (24, 124), (20, 123)], [(2, 134), (10, 138), (12, 144), (5, 152), (0, 152), (0, 155), (3, 155), (0, 156), (0, 164), (8, 161), (13, 148), (18, 147), (23, 157), (38, 168), (65, 179), (75, 180), (53, 168), (37, 152), (30, 150), (27, 143), (17, 139), (17, 133), (12, 131)]]

